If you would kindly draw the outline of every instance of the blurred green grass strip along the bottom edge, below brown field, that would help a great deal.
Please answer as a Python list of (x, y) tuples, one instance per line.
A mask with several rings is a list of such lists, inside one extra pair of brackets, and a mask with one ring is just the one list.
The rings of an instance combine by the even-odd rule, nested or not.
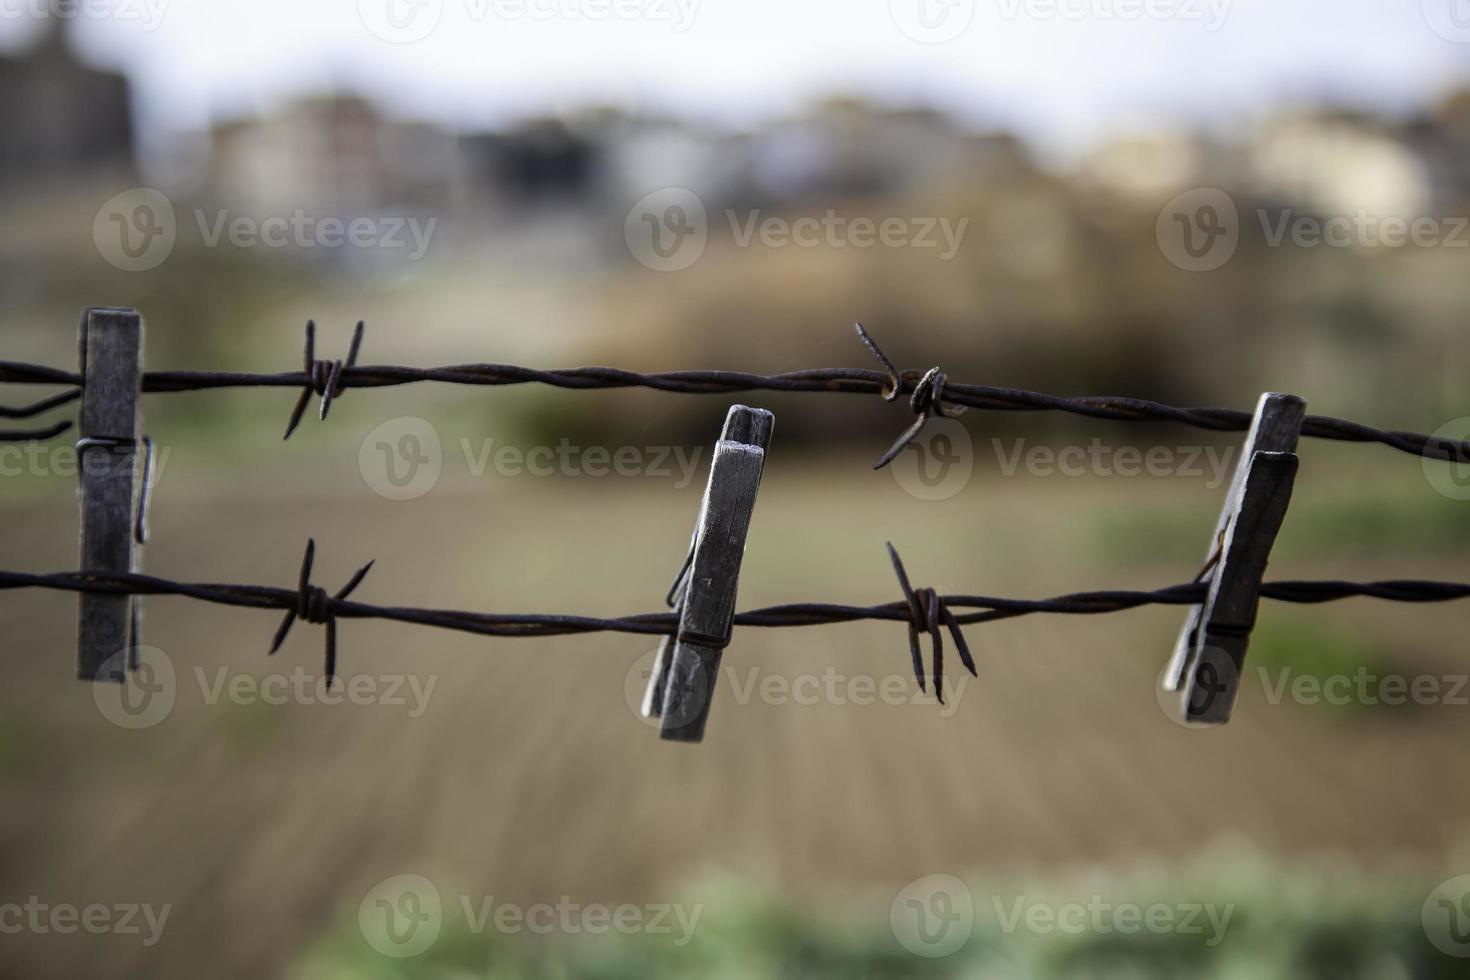
[[(886, 899), (858, 907), (795, 907), (732, 880), (686, 898), (703, 904), (692, 939), (662, 936), (535, 936), (467, 929), (456, 898), (444, 895), (444, 929), (423, 954), (394, 959), (357, 932), (356, 905), (341, 926), (298, 959), (293, 976), (313, 980), (903, 980), (1014, 977), (1017, 980), (1176, 977), (1272, 980), (1432, 980), (1458, 977), (1463, 962), (1435, 949), (1420, 921), (1432, 879), (1366, 879), (1335, 868), (1282, 871), (1251, 855), (1214, 855), (1163, 874), (1089, 876), (1080, 882), (970, 883), (975, 926), (948, 956), (904, 949), (888, 923)], [(1164, 907), (1182, 917), (1210, 905), (1225, 927), (1201, 934), (1082, 927), (1061, 932), (1007, 927), (1000, 909), (1067, 904)], [(883, 908), (879, 911), (878, 907)], [(1104, 923), (1111, 920), (1104, 914)], [(1207, 923), (1207, 918), (1198, 918)], [(1208, 942), (1214, 936), (1216, 942)]]

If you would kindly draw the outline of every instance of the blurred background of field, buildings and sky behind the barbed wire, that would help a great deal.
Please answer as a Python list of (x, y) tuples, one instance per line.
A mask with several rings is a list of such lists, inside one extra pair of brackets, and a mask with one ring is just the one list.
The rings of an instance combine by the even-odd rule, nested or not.
[[(861, 320), (956, 381), (1288, 391), (1470, 435), (1461, 0), (0, 0), (0, 134), (6, 360), (75, 370), (87, 306), (144, 314), (150, 370), (298, 370), (307, 319), (325, 359), (366, 320), (365, 364), (875, 367)], [(148, 572), (290, 585), (315, 536), (328, 588), (376, 558), (369, 602), (653, 611), (735, 401), (354, 389), (282, 441), (294, 398), (144, 400)], [(947, 592), (1183, 582), (1239, 442), (970, 411), (875, 472), (904, 404), (739, 400), (776, 413), (742, 607), (898, 598), (885, 541)], [(0, 447), (0, 566), (75, 567), (69, 447)], [(1458, 466), (1301, 457), (1272, 577), (1470, 579)], [(742, 630), (691, 749), (635, 711), (639, 638), (348, 621), (363, 696), (334, 704), (320, 630), (268, 660), (272, 616), (172, 598), (143, 635), (168, 704), (119, 716), (69, 679), (75, 602), (0, 598), (12, 976), (1448, 977), (1470, 955), (1457, 605), (1263, 605), (1208, 732), (1154, 693), (1180, 608), (970, 627), (979, 677), (945, 705), (897, 624)], [(1423, 696), (1394, 704), (1395, 679)], [(93, 905), (97, 929), (51, 915)], [(578, 911), (481, 914), (501, 907)], [(623, 907), (641, 926), (585, 915)]]

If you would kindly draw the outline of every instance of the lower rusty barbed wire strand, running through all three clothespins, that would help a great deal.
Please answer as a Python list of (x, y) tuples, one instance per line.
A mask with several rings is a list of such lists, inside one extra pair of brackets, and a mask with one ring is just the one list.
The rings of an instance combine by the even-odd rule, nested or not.
[[(948, 626), (957, 642), (961, 661), (975, 673), (969, 646), (958, 632), (961, 626), (1044, 613), (1097, 616), (1122, 613), (1145, 605), (1198, 605), (1205, 599), (1210, 589), (1207, 582), (1188, 582), (1151, 591), (1102, 589), (1072, 592), (1042, 599), (1014, 599), (992, 595), (941, 595), (933, 589), (913, 589), (898, 558), (898, 552), (892, 545), (888, 545), (888, 548), (904, 591), (903, 599), (879, 602), (876, 605), (845, 605), (836, 602), (767, 605), (736, 613), (735, 626), (778, 629), (831, 626), (864, 620), (906, 623), (910, 630), (910, 652), (914, 660), (914, 673), (920, 688), (925, 686), (925, 679), (919, 661), (917, 636), (929, 633), (935, 641), (933, 679), (938, 691), (942, 679), (942, 646), (938, 644), (941, 623)], [(294, 589), (269, 585), (175, 582), (135, 572), (0, 572), (0, 591), (35, 588), (104, 595), (175, 595), (218, 605), (284, 611), (287, 617), (272, 639), (270, 652), (273, 654), (279, 649), (287, 630), (295, 619), (323, 624), (326, 627), (325, 673), (328, 679), (335, 676), (337, 671), (335, 621), (338, 619), (388, 620), (504, 638), (567, 636), (598, 632), (667, 636), (676, 633), (679, 629), (679, 617), (673, 611), (604, 619), (563, 613), (473, 613), (362, 602), (350, 599), (347, 595), (366, 577), (373, 563), (369, 561), (359, 569), (347, 586), (335, 595), (328, 595), (325, 589), (310, 583), (315, 551), (315, 541), (309, 541), (297, 588)], [(1380, 582), (1283, 580), (1261, 585), (1260, 595), (1280, 602), (1298, 604), (1335, 602), (1347, 598), (1376, 598), (1392, 602), (1448, 602), (1470, 598), (1470, 583), (1421, 579), (1388, 579)]]

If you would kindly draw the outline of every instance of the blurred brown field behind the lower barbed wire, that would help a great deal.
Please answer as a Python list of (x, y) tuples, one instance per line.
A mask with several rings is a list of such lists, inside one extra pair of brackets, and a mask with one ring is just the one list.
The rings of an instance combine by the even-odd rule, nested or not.
[[(1223, 491), (1185, 478), (1003, 479), (983, 416), (967, 420), (978, 476), (941, 502), (908, 497), (886, 472), (870, 472), (869, 457), (782, 455), (778, 423), (741, 605), (891, 599), (898, 591), (885, 539), (901, 548), (916, 583), (951, 592), (1150, 588), (1197, 569)], [(359, 591), (366, 601), (656, 608), (682, 555), (703, 467), (685, 488), (653, 478), (472, 479), (447, 467), (428, 497), (391, 502), (357, 472), (369, 428), (334, 411), (326, 426), (293, 439), (300, 444), (284, 450), (288, 464), (178, 445), (154, 500), (148, 570), (287, 585), (315, 536), (316, 582), (329, 589), (378, 560)], [(451, 442), (472, 432), (442, 435)], [(1192, 439), (1157, 432), (1164, 444)], [(1342, 519), (1361, 501), (1380, 514), (1376, 527)], [(1463, 505), (1446, 502), (1410, 457), (1305, 444), (1272, 576), (1466, 579), (1470, 525)], [(15, 492), (3, 510), (0, 564), (72, 567), (74, 508), (65, 479)], [(1432, 535), (1419, 532), (1426, 514)], [(1357, 538), (1339, 527), (1358, 527)], [(1455, 604), (1267, 605), (1263, 655), (1302, 670), (1341, 654), (1376, 670), (1463, 671), (1463, 616)], [(125, 936), (7, 937), (7, 973), (184, 977), (209, 962), (218, 977), (293, 968), (417, 976), (412, 964), (381, 973), (397, 964), (357, 961), (350, 948), (363, 895), (403, 873), (520, 904), (670, 902), (711, 879), (734, 880), (757, 895), (779, 892), (792, 907), (845, 909), (845, 927), (864, 943), (892, 948), (888, 902), (933, 873), (1066, 880), (1100, 867), (1188, 868), (1220, 848), (1254, 849), (1264, 855), (1264, 883), (1232, 901), (1266, 902), (1289, 868), (1347, 867), (1429, 884), (1464, 870), (1455, 861), (1470, 829), (1470, 786), (1458, 764), (1470, 711), (1352, 717), (1273, 705), (1252, 674), (1235, 723), (1186, 732), (1154, 695), (1180, 619), (1182, 610), (1151, 608), (970, 627), (980, 676), (945, 708), (929, 698), (803, 705), (763, 699), (751, 686), (829, 667), (839, 680), (907, 679), (897, 624), (744, 630), (726, 657), (709, 739), (691, 749), (662, 745), (629, 705), (651, 649), (639, 638), (491, 641), (345, 621), (343, 673), (432, 682), (420, 717), (384, 704), (209, 705), (196, 667), (209, 679), (219, 667), (315, 674), (320, 630), (298, 624), (270, 661), (275, 616), (168, 598), (147, 602), (146, 642), (172, 658), (178, 702), (157, 727), (125, 732), (69, 680), (75, 598), (7, 594), (6, 895), (173, 905), (154, 948)], [(911, 679), (901, 683), (911, 689)], [(757, 693), (738, 702), (741, 686)], [(1413, 923), (1423, 892), (1392, 895), (1382, 914)], [(739, 934), (739, 908), (713, 904), (706, 929)], [(735, 920), (720, 923), (720, 909)], [(1292, 934), (1305, 942), (1305, 932)], [(488, 955), (470, 948), (478, 952), (467, 962)], [(529, 955), (519, 942), (510, 951), (507, 964)], [(465, 976), (463, 964), (450, 965), (434, 976)], [(832, 967), (810, 976), (860, 974)]]

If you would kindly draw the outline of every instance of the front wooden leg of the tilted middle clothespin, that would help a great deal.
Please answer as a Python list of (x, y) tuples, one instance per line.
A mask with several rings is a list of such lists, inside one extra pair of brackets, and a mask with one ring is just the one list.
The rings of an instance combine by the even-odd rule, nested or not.
[(659, 733), (667, 741), (700, 742), (704, 738), (720, 655), (729, 645), (735, 621), (745, 533), (756, 510), (773, 423), (775, 416), (769, 411), (734, 406), (714, 445), (663, 692)]

